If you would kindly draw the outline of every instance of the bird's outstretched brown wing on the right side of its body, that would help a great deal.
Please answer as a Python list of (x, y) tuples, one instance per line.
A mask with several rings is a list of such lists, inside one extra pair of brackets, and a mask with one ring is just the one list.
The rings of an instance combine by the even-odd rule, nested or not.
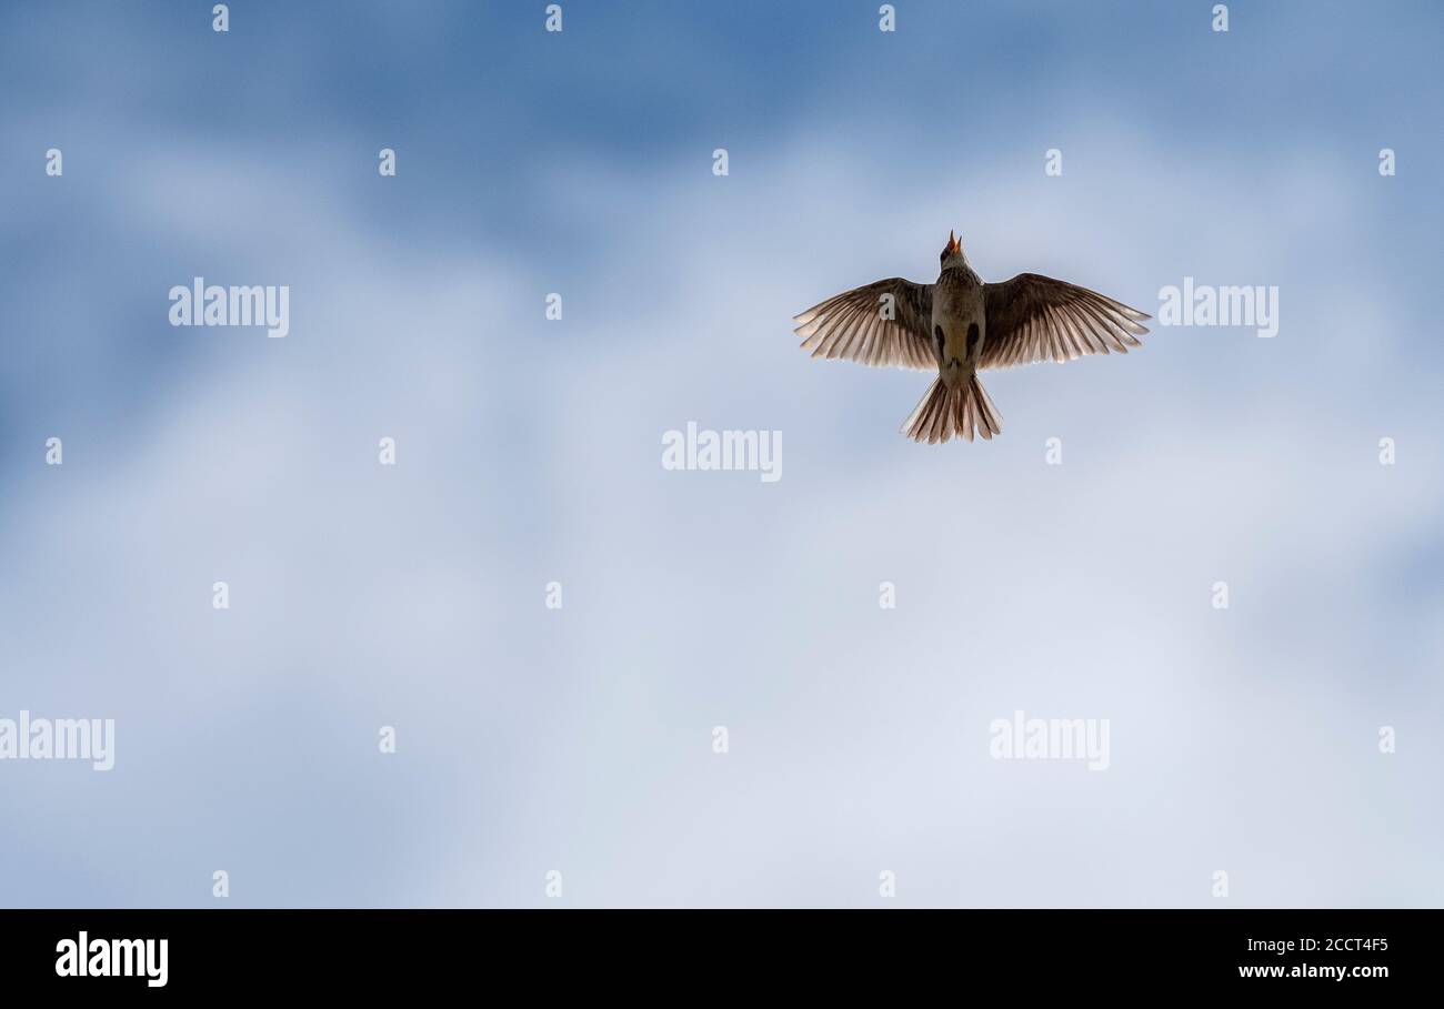
[(1141, 346), (1148, 316), (1077, 284), (1019, 273), (983, 284), (988, 336), (980, 368), (1009, 368), (1035, 361), (1071, 361), (1084, 354), (1128, 354)]

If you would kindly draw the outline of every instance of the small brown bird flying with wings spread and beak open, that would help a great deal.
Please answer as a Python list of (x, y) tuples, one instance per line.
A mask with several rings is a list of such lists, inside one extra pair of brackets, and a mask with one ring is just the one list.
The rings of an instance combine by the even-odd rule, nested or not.
[(793, 316), (801, 349), (869, 367), (937, 370), (902, 421), (914, 442), (1002, 433), (998, 410), (978, 381), (986, 368), (1128, 354), (1151, 316), (1087, 287), (1037, 273), (983, 283), (952, 231), (937, 281), (890, 277), (853, 287)]

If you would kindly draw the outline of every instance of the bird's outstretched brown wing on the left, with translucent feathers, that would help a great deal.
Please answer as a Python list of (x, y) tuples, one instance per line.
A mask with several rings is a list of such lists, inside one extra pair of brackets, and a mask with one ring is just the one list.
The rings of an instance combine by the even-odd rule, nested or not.
[(921, 370), (937, 368), (931, 320), (933, 286), (901, 277), (853, 287), (793, 318), (814, 358)]

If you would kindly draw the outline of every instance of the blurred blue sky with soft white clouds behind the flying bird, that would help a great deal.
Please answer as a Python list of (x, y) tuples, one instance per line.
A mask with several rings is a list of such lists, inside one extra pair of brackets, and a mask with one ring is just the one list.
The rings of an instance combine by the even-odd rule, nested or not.
[[(0, 759), (0, 905), (1441, 904), (1444, 12), (894, 6), (0, 9), (0, 719), (114, 723)], [(914, 445), (790, 319), (949, 230), (1278, 333)]]

